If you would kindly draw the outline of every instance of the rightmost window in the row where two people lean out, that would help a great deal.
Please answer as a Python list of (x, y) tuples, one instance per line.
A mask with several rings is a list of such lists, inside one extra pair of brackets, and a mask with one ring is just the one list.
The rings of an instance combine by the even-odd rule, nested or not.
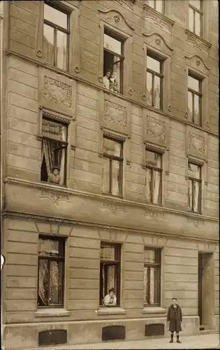
[(188, 116), (189, 121), (201, 125), (201, 85), (200, 79), (188, 76)]

